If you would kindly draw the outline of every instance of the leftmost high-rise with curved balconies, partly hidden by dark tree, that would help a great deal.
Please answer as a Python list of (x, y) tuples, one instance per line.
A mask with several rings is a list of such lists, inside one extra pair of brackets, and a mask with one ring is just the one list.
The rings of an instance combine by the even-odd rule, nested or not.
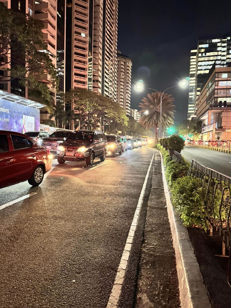
[[(7, 8), (28, 14), (43, 23), (43, 38), (54, 67), (59, 74), (59, 91), (65, 91), (65, 24), (66, 24), (66, 0), (0, 0)], [(20, 48), (19, 48), (20, 50)], [(11, 50), (10, 65), (25, 63), (25, 55), (20, 55), (19, 50)], [(8, 66), (8, 68), (10, 68)], [(56, 91), (52, 88), (50, 76), (43, 74), (41, 82), (46, 84), (56, 104)], [(18, 79), (13, 79), (4, 86), (3, 90), (30, 98), (30, 89), (22, 86)], [(48, 120), (48, 115), (41, 114), (42, 123)]]

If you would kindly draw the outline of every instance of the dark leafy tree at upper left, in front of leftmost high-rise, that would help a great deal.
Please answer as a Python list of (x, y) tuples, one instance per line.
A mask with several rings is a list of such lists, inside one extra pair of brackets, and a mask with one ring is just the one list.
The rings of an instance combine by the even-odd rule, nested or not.
[[(39, 92), (50, 100), (50, 90), (43, 84), (43, 74), (49, 75), (52, 87), (58, 86), (58, 74), (43, 39), (43, 23), (28, 15), (7, 9), (0, 3), (0, 68), (8, 74), (0, 77), (2, 83), (13, 79)], [(38, 51), (38, 50), (39, 51)], [(11, 63), (11, 54), (18, 53), (17, 63)], [(7, 68), (10, 65), (10, 68)]]

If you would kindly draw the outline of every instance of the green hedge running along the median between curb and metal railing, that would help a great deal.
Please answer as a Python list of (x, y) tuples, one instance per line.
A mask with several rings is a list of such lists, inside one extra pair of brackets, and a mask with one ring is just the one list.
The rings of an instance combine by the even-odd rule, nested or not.
[[(163, 164), (165, 166), (165, 177), (171, 189), (172, 205), (176, 208), (177, 213), (179, 213), (183, 225), (186, 227), (197, 226), (204, 230), (208, 229), (208, 217), (213, 216), (213, 213), (210, 213), (207, 206), (205, 206), (206, 189), (203, 191), (200, 180), (187, 176), (190, 164), (184, 157), (182, 157), (181, 163), (176, 163), (168, 155), (168, 151), (160, 144), (157, 144), (156, 148), (162, 153)], [(210, 189), (207, 202), (211, 204), (212, 199), (212, 189)], [(223, 199), (225, 206), (222, 207), (221, 219), (225, 223), (228, 217), (230, 204), (228, 191), (225, 191)], [(217, 222), (219, 222), (220, 202), (221, 192), (217, 190), (213, 203), (214, 215)]]

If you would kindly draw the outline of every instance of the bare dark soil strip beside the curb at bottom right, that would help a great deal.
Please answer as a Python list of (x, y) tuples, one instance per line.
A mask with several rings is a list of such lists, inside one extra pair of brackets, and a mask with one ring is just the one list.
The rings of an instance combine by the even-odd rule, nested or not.
[(215, 256), (222, 254), (221, 239), (196, 228), (188, 228), (188, 234), (212, 307), (231, 307), (231, 288), (227, 282), (228, 258)]

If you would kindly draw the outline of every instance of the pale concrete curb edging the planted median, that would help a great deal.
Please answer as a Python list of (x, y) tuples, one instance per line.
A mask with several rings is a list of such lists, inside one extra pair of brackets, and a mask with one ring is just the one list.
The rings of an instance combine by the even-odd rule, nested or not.
[(182, 225), (170, 200), (168, 184), (164, 174), (163, 157), (161, 168), (164, 193), (167, 202), (168, 219), (171, 226), (173, 246), (176, 253), (176, 269), (179, 279), (180, 302), (182, 308), (211, 308), (203, 277), (195, 257), (188, 231)]

